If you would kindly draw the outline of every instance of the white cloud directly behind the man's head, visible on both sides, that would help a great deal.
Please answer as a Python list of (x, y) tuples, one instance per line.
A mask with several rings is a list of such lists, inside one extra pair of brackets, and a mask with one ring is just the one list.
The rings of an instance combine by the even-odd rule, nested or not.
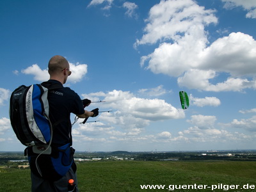
[[(69, 63), (70, 70), (72, 71), (71, 76), (68, 77), (69, 83), (77, 83), (83, 79), (83, 77), (87, 73), (87, 65), (80, 63)], [(41, 69), (37, 64), (33, 64), (32, 66), (21, 71), (26, 75), (35, 76), (34, 79), (36, 81), (47, 81), (49, 79), (48, 69)]]

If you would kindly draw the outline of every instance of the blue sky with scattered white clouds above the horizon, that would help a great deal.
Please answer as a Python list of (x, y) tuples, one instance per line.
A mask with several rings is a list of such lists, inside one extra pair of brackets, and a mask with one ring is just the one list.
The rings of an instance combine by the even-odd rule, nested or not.
[(10, 94), (47, 81), (56, 54), (65, 86), (106, 100), (88, 110), (113, 110), (74, 125), (76, 150), (255, 149), (254, 0), (3, 0), (0, 24), (0, 150), (24, 149)]

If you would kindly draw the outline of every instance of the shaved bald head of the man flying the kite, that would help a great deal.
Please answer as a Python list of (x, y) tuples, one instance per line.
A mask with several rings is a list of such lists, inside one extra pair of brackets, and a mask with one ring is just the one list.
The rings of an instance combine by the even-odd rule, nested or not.
[(63, 68), (69, 68), (68, 61), (60, 55), (53, 56), (48, 64), (48, 72), (51, 75), (61, 73)]

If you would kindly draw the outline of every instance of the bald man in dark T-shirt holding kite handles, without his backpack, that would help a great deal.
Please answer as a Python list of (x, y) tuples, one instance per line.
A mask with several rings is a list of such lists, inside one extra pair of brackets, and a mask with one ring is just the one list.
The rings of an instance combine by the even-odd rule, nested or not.
[[(31, 191), (68, 191), (68, 180), (73, 179), (77, 186), (76, 164), (74, 163), (71, 135), (70, 113), (79, 118), (99, 115), (99, 109), (84, 110), (90, 100), (81, 100), (79, 95), (70, 88), (63, 87), (68, 76), (70, 66), (63, 56), (53, 56), (49, 61), (49, 81), (42, 83), (50, 90), (49, 118), (53, 127), (51, 154), (38, 156), (28, 147), (29, 164), (31, 168)], [(78, 191), (78, 189), (76, 189)]]

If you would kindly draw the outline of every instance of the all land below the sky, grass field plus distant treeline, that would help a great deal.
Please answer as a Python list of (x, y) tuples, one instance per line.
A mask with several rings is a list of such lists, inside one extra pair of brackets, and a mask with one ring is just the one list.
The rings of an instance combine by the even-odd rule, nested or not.
[[(80, 191), (255, 191), (255, 156), (246, 150), (77, 152), (75, 157)], [(29, 191), (23, 154), (2, 152), (0, 157), (0, 191)]]

